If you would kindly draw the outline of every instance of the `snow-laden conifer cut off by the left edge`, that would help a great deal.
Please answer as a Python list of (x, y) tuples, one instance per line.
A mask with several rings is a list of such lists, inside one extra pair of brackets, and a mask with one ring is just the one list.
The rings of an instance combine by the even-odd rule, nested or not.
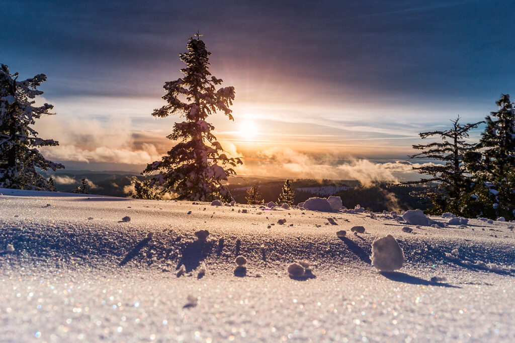
[(43, 74), (18, 81), (18, 73), (0, 65), (0, 187), (48, 190), (48, 180), (37, 169), (56, 170), (63, 165), (47, 160), (38, 147), (57, 146), (53, 139), (41, 139), (29, 125), (42, 115), (52, 115), (53, 106), (35, 106), (35, 99), (43, 92), (36, 89), (46, 81)]

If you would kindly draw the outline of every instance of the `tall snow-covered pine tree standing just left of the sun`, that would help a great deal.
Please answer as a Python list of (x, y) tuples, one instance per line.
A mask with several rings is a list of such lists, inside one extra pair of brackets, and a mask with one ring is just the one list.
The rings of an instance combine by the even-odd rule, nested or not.
[(228, 202), (231, 193), (222, 182), (235, 174), (229, 166), (235, 167), (242, 161), (222, 153), (224, 150), (211, 132), (214, 127), (206, 119), (220, 111), (234, 120), (229, 109), (234, 100), (234, 87), (216, 89), (222, 80), (211, 76), (208, 70), (211, 52), (200, 40), (201, 34), (197, 32), (195, 37), (190, 37), (188, 51), (180, 55), (186, 64), (181, 69), (184, 77), (164, 84), (163, 99), (167, 104), (152, 113), (158, 118), (184, 115), (186, 120), (175, 123), (173, 132), (167, 136), (180, 142), (160, 161), (147, 165), (142, 174), (157, 172), (151, 185), (162, 193), (177, 194), (178, 199), (211, 201), (219, 198)]

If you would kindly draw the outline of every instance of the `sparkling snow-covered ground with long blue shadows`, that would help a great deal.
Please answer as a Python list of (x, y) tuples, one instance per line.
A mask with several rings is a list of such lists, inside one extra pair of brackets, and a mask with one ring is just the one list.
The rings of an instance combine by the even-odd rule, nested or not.
[[(0, 341), (515, 340), (512, 223), (0, 193)], [(380, 273), (388, 234), (405, 262)]]

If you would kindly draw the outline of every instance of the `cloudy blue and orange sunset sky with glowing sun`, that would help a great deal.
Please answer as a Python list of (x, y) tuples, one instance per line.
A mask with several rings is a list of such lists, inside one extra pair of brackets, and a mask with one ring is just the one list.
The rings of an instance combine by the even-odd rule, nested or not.
[[(506, 1), (3, 1), (0, 62), (43, 73), (46, 157), (141, 171), (173, 142), (153, 119), (197, 30), (234, 86), (235, 120), (209, 119), (241, 175), (398, 177), (419, 132), (482, 120), (515, 90)], [(472, 133), (476, 139), (480, 129)], [(357, 175), (357, 176), (356, 176)], [(393, 176), (392, 176), (393, 175)]]

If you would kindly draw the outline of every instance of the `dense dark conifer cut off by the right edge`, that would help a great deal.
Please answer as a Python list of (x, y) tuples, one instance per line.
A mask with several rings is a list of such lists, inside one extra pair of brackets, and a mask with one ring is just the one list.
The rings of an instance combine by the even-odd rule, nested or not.
[(499, 110), (485, 118), (476, 150), (466, 155), (475, 187), (470, 197), (476, 215), (515, 218), (515, 110), (508, 94), (495, 102)]

